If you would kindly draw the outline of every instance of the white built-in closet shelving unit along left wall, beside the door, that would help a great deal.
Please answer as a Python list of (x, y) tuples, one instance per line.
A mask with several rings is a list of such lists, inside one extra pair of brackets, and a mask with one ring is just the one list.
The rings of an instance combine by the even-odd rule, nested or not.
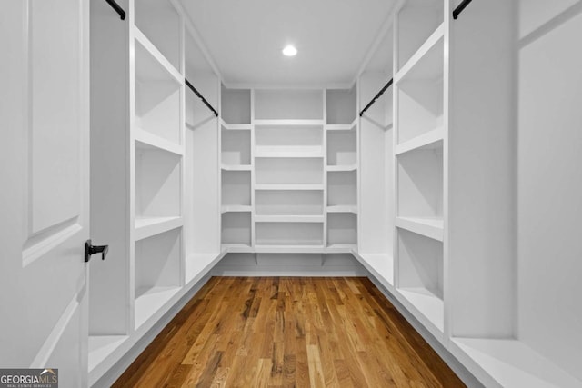
[(219, 78), (177, 2), (122, 3), (125, 21), (91, 2), (91, 228), (110, 246), (90, 264), (92, 385), (222, 257), (218, 123), (185, 86), (216, 104)]

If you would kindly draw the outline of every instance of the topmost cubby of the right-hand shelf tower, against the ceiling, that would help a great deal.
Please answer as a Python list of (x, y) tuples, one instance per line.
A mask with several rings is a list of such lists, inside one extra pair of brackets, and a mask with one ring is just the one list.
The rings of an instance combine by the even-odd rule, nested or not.
[(398, 69), (401, 69), (416, 51), (443, 23), (442, 0), (409, 0), (398, 12)]

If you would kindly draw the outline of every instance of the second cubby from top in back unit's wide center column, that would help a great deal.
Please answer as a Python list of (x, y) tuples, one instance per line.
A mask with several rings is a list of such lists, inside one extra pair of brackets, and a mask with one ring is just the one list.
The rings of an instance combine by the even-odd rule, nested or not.
[(256, 157), (323, 156), (322, 125), (256, 125)]

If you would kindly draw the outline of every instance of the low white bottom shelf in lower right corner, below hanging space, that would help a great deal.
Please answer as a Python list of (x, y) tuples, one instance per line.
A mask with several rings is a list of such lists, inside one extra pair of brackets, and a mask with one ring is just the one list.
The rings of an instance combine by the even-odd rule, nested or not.
[[(487, 385), (507, 388), (580, 387), (582, 382), (514, 339), (452, 338), (453, 353), (468, 358), (469, 371)], [(460, 353), (460, 354), (459, 354)]]

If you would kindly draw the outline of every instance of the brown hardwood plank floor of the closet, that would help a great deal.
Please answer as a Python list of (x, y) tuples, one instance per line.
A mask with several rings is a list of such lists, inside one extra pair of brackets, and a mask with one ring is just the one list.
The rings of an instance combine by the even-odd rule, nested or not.
[(465, 385), (366, 278), (214, 277), (114, 386)]

